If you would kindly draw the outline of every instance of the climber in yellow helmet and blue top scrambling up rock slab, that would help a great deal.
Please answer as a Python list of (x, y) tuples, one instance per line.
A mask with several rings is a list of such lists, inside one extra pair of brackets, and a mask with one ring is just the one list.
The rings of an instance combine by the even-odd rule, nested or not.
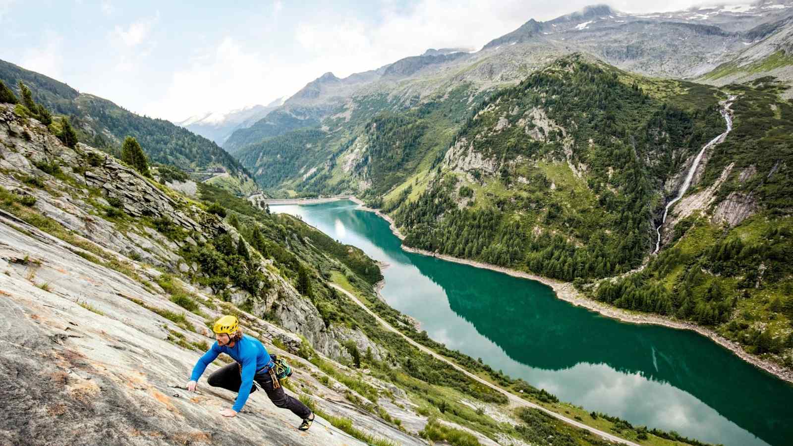
[(209, 375), (209, 379), (207, 379), (210, 386), (238, 392), (234, 406), (231, 409), (221, 409), (221, 415), (236, 417), (237, 413), (245, 406), (248, 394), (256, 391), (253, 384), (255, 380), (259, 386), (262, 386), (275, 406), (289, 409), (303, 419), (299, 429), (308, 430), (314, 421), (314, 413), (302, 402), (285, 394), (274, 373), (274, 361), (270, 358), (270, 353), (267, 352), (264, 345), (251, 336), (243, 336), (242, 330), (239, 329), (239, 322), (234, 316), (220, 317), (213, 326), (213, 332), (215, 332), (216, 342), (193, 367), (193, 375), (190, 375), (187, 390), (195, 391), (197, 381), (201, 378), (206, 366), (214, 361), (220, 353), (225, 353), (236, 362), (220, 367), (220, 370)]

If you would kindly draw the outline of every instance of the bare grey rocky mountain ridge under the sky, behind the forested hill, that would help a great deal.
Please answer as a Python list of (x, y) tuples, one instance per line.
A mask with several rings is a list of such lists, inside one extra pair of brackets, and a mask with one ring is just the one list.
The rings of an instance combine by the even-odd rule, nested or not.
[[(746, 48), (741, 38), (757, 36), (768, 23), (791, 15), (791, 8), (790, 0), (775, 0), (755, 2), (745, 9), (714, 6), (631, 14), (596, 5), (550, 21), (530, 19), (479, 51), (461, 53), (454, 60), (419, 63), (422, 56), (411, 56), (351, 75), (347, 82), (335, 83), (335, 87), (320, 85), (320, 79), (312, 81), (289, 98), (282, 110), (290, 113), (290, 104), (299, 105), (300, 113), (312, 117), (310, 121), (291, 122), (282, 129), (278, 129), (278, 121), (262, 121), (246, 133), (232, 135), (234, 151), (291, 130), (320, 127), (318, 121), (348, 113), (358, 102), (378, 95), (387, 95), (393, 109), (414, 106), (416, 101), (426, 101), (462, 82), (472, 83), (475, 90), (507, 87), (518, 83), (527, 72), (571, 52), (586, 52), (645, 75), (703, 80), (700, 76)], [(400, 65), (409, 68), (398, 70)], [(294, 110), (297, 107), (291, 113)], [(255, 129), (257, 126), (262, 127), (261, 131)]]

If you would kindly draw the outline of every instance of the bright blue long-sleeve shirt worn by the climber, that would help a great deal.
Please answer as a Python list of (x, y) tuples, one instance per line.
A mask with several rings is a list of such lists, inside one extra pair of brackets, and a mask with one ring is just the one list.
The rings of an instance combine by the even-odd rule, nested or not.
[(241, 373), (242, 384), (239, 385), (239, 393), (234, 402), (234, 407), (232, 407), (236, 412), (239, 412), (245, 406), (248, 394), (251, 393), (251, 386), (253, 386), (253, 378), (256, 375), (256, 371), (270, 363), (270, 353), (267, 352), (267, 349), (264, 348), (264, 345), (258, 339), (250, 336), (243, 336), (242, 339), (236, 341), (232, 348), (220, 347), (216, 341), (204, 353), (204, 356), (198, 359), (196, 366), (193, 367), (193, 375), (190, 375), (190, 380), (198, 381), (206, 366), (214, 361), (220, 353), (231, 356), (243, 366)]

